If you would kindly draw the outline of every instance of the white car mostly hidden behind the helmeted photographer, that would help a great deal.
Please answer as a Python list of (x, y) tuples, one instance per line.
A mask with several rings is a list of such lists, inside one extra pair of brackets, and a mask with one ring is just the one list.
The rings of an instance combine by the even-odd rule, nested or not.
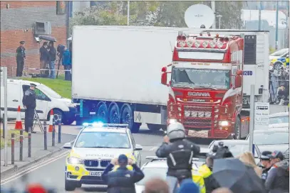
[[(197, 171), (198, 168), (205, 163), (205, 158), (209, 152), (208, 148), (200, 148), (199, 158), (192, 158), (192, 172)], [(139, 182), (135, 183), (136, 193), (142, 193), (145, 189), (145, 183), (152, 178), (160, 178), (166, 180), (166, 174), (168, 170), (167, 159), (166, 158), (157, 158), (156, 156), (147, 156), (147, 160), (142, 167), (145, 177)]]

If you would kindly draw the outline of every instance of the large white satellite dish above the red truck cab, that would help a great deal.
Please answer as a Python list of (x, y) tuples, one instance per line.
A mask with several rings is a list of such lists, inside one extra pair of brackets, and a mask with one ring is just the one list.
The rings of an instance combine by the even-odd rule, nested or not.
[(185, 11), (185, 23), (189, 28), (201, 28), (202, 25), (210, 28), (214, 23), (214, 11), (203, 4), (190, 6)]

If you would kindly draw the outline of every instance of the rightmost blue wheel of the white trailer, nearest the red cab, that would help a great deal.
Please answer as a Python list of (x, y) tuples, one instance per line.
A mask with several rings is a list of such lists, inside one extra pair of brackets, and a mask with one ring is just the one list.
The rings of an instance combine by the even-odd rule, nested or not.
[(120, 122), (123, 124), (128, 124), (132, 133), (138, 133), (141, 123), (134, 123), (133, 111), (130, 105), (124, 104), (121, 109), (122, 113)]

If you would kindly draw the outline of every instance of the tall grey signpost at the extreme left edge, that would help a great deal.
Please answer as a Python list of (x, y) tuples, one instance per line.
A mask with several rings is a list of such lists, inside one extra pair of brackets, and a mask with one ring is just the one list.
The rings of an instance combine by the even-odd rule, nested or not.
[(8, 131), (7, 131), (7, 67), (1, 67), (1, 87), (4, 87), (4, 126), (5, 129), (5, 138), (4, 138), (4, 166), (8, 165), (8, 150), (7, 150), (7, 142), (8, 142)]

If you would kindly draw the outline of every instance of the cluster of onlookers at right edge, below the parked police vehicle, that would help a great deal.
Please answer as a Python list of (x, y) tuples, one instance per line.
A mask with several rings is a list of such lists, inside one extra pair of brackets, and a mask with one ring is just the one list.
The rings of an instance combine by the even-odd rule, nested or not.
[(269, 92), (271, 104), (289, 104), (289, 66), (270, 64)]

